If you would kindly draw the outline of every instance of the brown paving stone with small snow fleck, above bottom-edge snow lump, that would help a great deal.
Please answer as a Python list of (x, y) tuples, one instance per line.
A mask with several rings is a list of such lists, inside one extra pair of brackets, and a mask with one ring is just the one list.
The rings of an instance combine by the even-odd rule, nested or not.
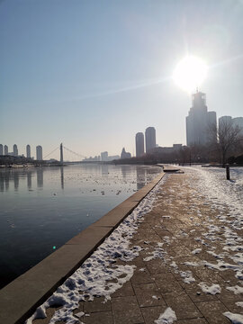
[(133, 284), (139, 307), (166, 305), (156, 284)]

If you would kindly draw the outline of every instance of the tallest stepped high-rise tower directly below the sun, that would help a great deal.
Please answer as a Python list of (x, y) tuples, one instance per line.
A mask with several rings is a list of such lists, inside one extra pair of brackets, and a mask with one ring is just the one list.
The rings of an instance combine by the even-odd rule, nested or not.
[[(211, 139), (212, 126), (217, 127), (216, 112), (208, 112), (206, 94), (193, 94), (193, 106), (186, 117), (187, 146), (206, 145)], [(216, 141), (216, 134), (214, 140)]]

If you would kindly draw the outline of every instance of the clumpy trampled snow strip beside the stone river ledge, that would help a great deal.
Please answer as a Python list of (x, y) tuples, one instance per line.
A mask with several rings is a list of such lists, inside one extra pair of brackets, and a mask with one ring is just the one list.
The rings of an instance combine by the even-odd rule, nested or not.
[[(93, 255), (71, 275), (64, 284), (58, 287), (47, 302), (44, 302), (31, 316), (26, 324), (32, 320), (46, 317), (46, 309), (49, 307), (62, 306), (55, 311), (49, 324), (59, 320), (74, 324), (80, 321), (73, 314), (81, 301), (92, 301), (94, 297), (103, 296), (104, 300), (110, 300), (111, 294), (121, 288), (130, 280), (136, 266), (121, 266), (116, 264), (117, 259), (131, 261), (139, 256), (141, 247), (130, 248), (130, 238), (137, 231), (139, 222), (143, 216), (151, 211), (157, 200), (157, 192), (161, 184), (166, 181), (167, 175), (148, 193), (130, 215), (121, 222), (109, 238), (98, 247)], [(162, 257), (161, 244), (157, 247), (157, 255), (151, 257)]]

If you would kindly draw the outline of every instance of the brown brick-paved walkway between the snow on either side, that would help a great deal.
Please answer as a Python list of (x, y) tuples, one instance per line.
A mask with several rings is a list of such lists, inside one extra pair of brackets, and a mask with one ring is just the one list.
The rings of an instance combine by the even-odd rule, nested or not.
[[(132, 239), (132, 245), (143, 247), (139, 257), (129, 262), (137, 266), (134, 275), (112, 294), (109, 302), (103, 303), (103, 298), (80, 302), (74, 313), (85, 312), (80, 318), (82, 322), (150, 324), (167, 307), (175, 311), (177, 324), (224, 324), (230, 320), (223, 312), (243, 314), (243, 308), (236, 304), (243, 301), (242, 293), (226, 289), (238, 284), (235, 272), (203, 266), (206, 262), (217, 264), (215, 256), (223, 252), (222, 233), (213, 231), (214, 226), (222, 227), (223, 223), (216, 218), (219, 211), (215, 206), (205, 202), (202, 193), (193, 188), (193, 176), (190, 173), (169, 175), (157, 194), (155, 207), (144, 217)], [(203, 236), (209, 233), (209, 225), (213, 239), (212, 235), (211, 238)], [(213, 252), (208, 253), (209, 250)], [(186, 266), (184, 262), (191, 264)], [(118, 263), (125, 265), (121, 260)], [(214, 284), (216, 290), (219, 285), (220, 293), (203, 293), (198, 285), (202, 282), (208, 287)], [(54, 311), (49, 309), (47, 319), (33, 323), (49, 323)]]

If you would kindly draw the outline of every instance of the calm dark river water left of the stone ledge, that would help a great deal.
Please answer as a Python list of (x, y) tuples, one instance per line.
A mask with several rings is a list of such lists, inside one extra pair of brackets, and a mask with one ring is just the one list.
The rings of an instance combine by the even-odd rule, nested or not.
[(97, 164), (0, 169), (0, 288), (160, 172)]

